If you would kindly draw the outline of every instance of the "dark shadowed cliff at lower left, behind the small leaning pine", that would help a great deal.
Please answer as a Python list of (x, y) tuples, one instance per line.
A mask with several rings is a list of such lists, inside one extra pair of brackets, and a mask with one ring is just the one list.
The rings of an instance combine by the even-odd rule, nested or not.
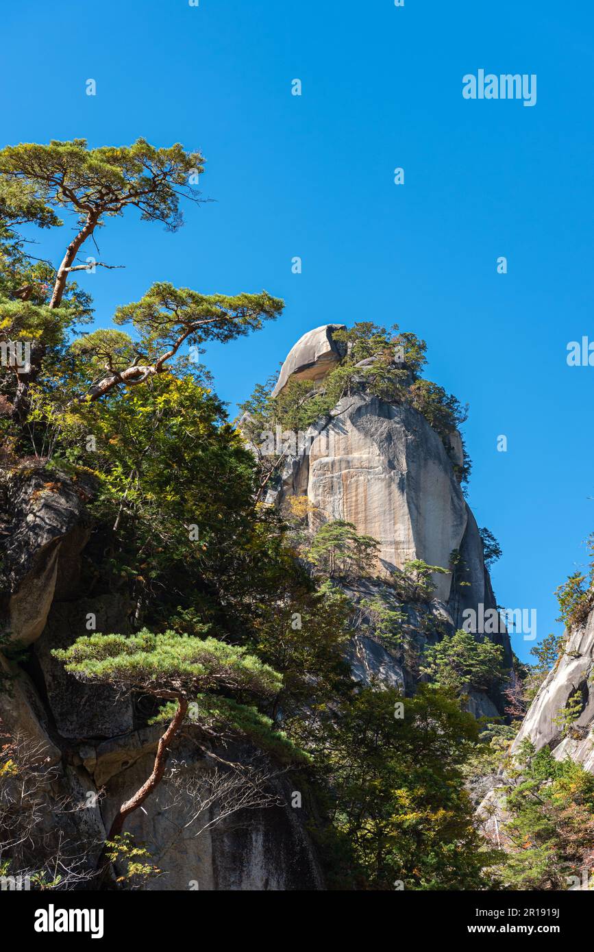
[[(50, 653), (89, 633), (89, 613), (96, 630), (128, 630), (125, 597), (113, 592), (85, 598), (79, 589), (81, 561), (85, 551), (89, 555), (91, 520), (85, 503), (92, 491), (90, 484), (38, 467), (10, 477), (4, 499), (11, 516), (10, 524), (5, 521), (10, 531), (5, 533), (4, 626), (15, 638), (36, 644), (30, 673), (0, 655), (1, 672), (15, 676), (10, 693), (0, 691), (0, 738), (27, 737), (44, 769), (51, 769), (40, 787), (39, 837), (61, 835), (81, 875), (94, 869), (119, 805), (147, 780), (162, 733), (158, 726), (134, 730), (129, 698), (109, 686), (79, 683)], [(205, 769), (204, 755), (191, 741), (179, 739), (170, 756), (184, 762), (188, 777)], [(250, 756), (247, 746), (246, 760)], [(323, 888), (305, 825), (307, 809), (289, 805), (287, 778), (272, 777), (270, 783), (284, 805), (240, 811), (220, 824), (216, 807), (210, 806), (202, 822), (213, 826), (197, 837), (196, 824), (186, 825), (192, 803), (182, 798), (171, 804), (165, 781), (128, 827), (148, 843), (163, 870), (148, 888)], [(79, 863), (79, 853), (87, 848), (89, 855)]]

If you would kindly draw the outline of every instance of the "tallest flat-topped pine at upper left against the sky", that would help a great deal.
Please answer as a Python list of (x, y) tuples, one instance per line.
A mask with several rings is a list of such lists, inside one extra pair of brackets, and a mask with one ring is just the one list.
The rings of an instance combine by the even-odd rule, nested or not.
[[(28, 390), (39, 375), (47, 347), (60, 342), (80, 311), (80, 305), (73, 307), (76, 294), (67, 295), (69, 277), (80, 270), (112, 267), (94, 259), (77, 264), (83, 245), (104, 219), (120, 215), (128, 207), (137, 208), (146, 221), (178, 228), (182, 221), (179, 198), (196, 199), (189, 176), (197, 179), (202, 170), (199, 152), (186, 152), (180, 145), (155, 149), (144, 139), (118, 148), (88, 149), (85, 139), (75, 139), (0, 150), (0, 211), (8, 214), (5, 249), (8, 238), (11, 252), (2, 281), (8, 290), (8, 296), (0, 299), (2, 329), (8, 339), (27, 336), (36, 342), (30, 363), (14, 368), (17, 387), (12, 409), (16, 419), (28, 408)], [(58, 268), (49, 263), (30, 268), (22, 244), (14, 238), (14, 227), (24, 222), (42, 228), (60, 226), (63, 222), (56, 212), (75, 216), (76, 233)], [(24, 279), (25, 284), (18, 287)], [(85, 312), (88, 315), (88, 305)]]

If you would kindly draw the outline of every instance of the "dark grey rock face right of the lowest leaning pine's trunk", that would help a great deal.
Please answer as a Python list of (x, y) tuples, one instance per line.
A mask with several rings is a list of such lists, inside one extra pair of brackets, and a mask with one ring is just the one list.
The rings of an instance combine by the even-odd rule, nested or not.
[[(234, 756), (241, 762), (249, 758), (249, 751)], [(183, 763), (187, 782), (199, 778), (208, 766), (188, 739), (174, 745), (172, 758)], [(101, 811), (108, 829), (119, 804), (148, 777), (152, 760), (152, 752), (140, 757), (130, 753), (129, 767), (106, 784)], [(180, 799), (179, 790), (166, 777), (143, 804), (144, 810), (133, 813), (127, 824), (138, 842), (149, 844), (153, 862), (163, 870), (163, 877), (148, 883), (148, 889), (321, 889), (321, 872), (300, 815), (305, 811), (288, 805), (290, 783), (274, 780), (271, 789), (285, 805), (245, 810), (222, 821), (217, 819), (217, 807), (208, 805), (192, 821), (196, 808)]]

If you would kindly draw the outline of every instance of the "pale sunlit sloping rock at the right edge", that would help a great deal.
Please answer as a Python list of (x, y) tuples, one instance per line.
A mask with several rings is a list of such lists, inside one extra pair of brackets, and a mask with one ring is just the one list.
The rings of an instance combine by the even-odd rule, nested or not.
[[(537, 750), (548, 745), (557, 760), (570, 757), (594, 773), (593, 674), (594, 611), (590, 612), (585, 625), (570, 635), (559, 662), (530, 705), (512, 752), (529, 740)], [(555, 721), (567, 702), (575, 697), (580, 698), (582, 710), (564, 732)]]

